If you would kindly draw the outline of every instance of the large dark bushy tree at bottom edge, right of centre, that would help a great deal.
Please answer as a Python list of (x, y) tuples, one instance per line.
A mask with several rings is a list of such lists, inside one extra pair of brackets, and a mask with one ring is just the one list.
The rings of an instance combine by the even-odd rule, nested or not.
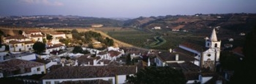
[(186, 83), (184, 74), (171, 67), (145, 67), (134, 76), (127, 77), (130, 83)]

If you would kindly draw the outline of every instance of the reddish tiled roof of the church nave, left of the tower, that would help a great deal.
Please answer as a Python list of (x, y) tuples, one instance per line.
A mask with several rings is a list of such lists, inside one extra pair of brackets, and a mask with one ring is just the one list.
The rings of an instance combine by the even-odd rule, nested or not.
[(208, 48), (206, 48), (204, 46), (201, 46), (201, 45), (198, 45), (198, 44), (194, 44), (194, 43), (189, 43), (189, 42), (185, 42), (185, 43), (182, 43), (180, 45), (184, 46), (184, 47), (187, 47), (187, 48), (190, 48), (190, 49), (194, 49), (194, 50), (199, 51), (199, 52), (202, 52), (202, 51), (205, 51), (205, 50), (208, 49)]

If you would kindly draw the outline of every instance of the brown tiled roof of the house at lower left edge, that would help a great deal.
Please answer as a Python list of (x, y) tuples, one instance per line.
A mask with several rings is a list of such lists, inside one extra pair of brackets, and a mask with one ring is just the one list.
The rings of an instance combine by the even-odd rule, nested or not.
[(11, 60), (0, 63), (0, 70), (15, 71), (20, 69), (20, 67), (30, 70), (30, 68), (32, 67), (37, 67), (42, 65), (45, 65), (45, 64), (33, 62), (33, 61), (20, 60), (20, 59), (11, 59)]

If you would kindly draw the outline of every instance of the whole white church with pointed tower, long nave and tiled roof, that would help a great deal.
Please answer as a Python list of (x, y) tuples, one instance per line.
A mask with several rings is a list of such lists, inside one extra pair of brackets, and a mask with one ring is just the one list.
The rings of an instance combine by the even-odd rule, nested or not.
[(179, 51), (174, 49), (176, 52), (190, 52), (192, 55), (200, 60), (200, 66), (208, 68), (211, 71), (216, 70), (216, 66), (219, 64), (220, 52), (221, 52), (221, 41), (217, 39), (215, 29), (212, 30), (210, 38), (205, 40), (205, 46), (193, 44), (193, 43), (183, 43), (179, 45)]

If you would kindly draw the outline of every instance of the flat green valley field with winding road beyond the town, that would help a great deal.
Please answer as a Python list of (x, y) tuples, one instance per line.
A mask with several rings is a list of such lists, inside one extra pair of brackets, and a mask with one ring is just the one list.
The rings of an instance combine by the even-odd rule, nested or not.
[[(120, 40), (125, 43), (129, 43), (138, 47), (163, 49), (175, 48), (179, 44), (189, 41), (199, 44), (204, 44), (204, 36), (199, 36), (196, 33), (184, 33), (184, 32), (170, 32), (170, 31), (155, 31), (154, 33), (148, 33), (131, 28), (100, 28), (95, 29), (103, 31), (109, 36)], [(162, 35), (165, 34), (165, 35)], [(157, 39), (158, 38), (158, 39)]]

